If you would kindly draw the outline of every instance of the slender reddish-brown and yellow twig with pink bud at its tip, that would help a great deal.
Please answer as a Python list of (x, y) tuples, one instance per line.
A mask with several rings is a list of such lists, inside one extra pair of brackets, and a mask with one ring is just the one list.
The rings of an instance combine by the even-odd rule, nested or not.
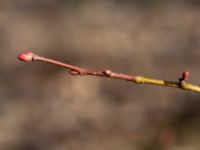
[(49, 64), (54, 64), (54, 65), (60, 66), (62, 68), (69, 69), (69, 73), (71, 75), (92, 75), (92, 76), (108, 77), (108, 78), (132, 81), (136, 84), (153, 84), (153, 85), (179, 88), (182, 90), (188, 90), (191, 92), (200, 93), (199, 86), (196, 86), (196, 85), (186, 82), (189, 78), (188, 71), (184, 71), (182, 73), (182, 76), (178, 79), (178, 81), (173, 82), (173, 81), (166, 81), (166, 80), (151, 79), (151, 78), (146, 78), (143, 76), (126, 75), (126, 74), (122, 74), (122, 73), (116, 73), (116, 72), (113, 72), (108, 69), (103, 70), (103, 71), (86, 70), (83, 68), (79, 68), (77, 66), (69, 65), (66, 63), (62, 63), (60, 61), (42, 57), (42, 56), (33, 54), (32, 52), (29, 52), (29, 51), (20, 54), (18, 56), (18, 59), (21, 61), (24, 61), (24, 62), (41, 61), (41, 62), (46, 62)]

